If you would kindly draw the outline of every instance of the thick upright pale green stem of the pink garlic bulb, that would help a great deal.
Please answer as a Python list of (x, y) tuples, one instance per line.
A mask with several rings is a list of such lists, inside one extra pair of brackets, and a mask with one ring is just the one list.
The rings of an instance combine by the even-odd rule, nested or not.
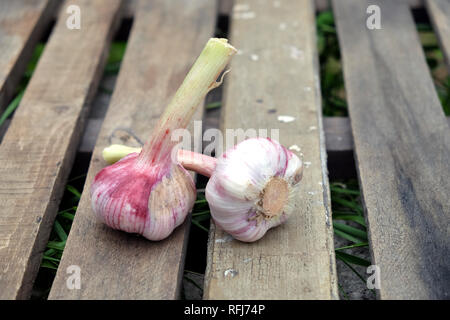
[(207, 42), (144, 145), (138, 160), (141, 167), (167, 162), (177, 143), (171, 140), (172, 131), (187, 127), (206, 94), (220, 85), (216, 79), (235, 53), (227, 39), (211, 38)]

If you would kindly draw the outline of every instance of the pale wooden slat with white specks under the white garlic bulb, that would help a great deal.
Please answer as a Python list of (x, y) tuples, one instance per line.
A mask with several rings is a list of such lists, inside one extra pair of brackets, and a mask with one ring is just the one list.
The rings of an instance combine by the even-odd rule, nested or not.
[[(223, 241), (213, 225), (204, 297), (338, 298), (313, 2), (237, 0), (231, 26), (240, 51), (227, 79), (222, 129), (279, 129), (283, 145), (300, 147), (306, 168), (298, 212), (261, 240)], [(282, 123), (279, 115), (295, 121)]]

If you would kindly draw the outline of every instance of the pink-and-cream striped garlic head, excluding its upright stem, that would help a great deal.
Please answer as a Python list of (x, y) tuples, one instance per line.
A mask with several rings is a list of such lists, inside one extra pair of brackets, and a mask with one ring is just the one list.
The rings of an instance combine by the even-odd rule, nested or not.
[(96, 216), (113, 229), (161, 240), (185, 220), (194, 206), (196, 188), (179, 164), (140, 170), (138, 153), (103, 168), (91, 185)]

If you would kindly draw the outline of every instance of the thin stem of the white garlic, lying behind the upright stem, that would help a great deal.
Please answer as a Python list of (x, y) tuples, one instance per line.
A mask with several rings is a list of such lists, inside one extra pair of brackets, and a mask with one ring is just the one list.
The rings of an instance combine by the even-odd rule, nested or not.
[[(109, 164), (113, 164), (122, 158), (125, 158), (130, 153), (139, 153), (141, 148), (133, 148), (120, 144), (112, 144), (103, 149), (103, 159)], [(192, 170), (206, 177), (210, 177), (216, 168), (217, 159), (206, 156), (204, 154), (188, 151), (178, 150), (178, 162), (186, 169)]]

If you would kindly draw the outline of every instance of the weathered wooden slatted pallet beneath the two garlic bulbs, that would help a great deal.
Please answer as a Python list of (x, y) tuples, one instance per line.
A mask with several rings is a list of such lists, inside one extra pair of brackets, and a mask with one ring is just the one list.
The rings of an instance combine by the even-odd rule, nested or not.
[[(327, 152), (354, 152), (372, 262), (381, 271), (379, 298), (450, 298), (449, 122), (407, 2), (332, 2), (349, 119), (322, 119), (312, 0), (236, 0), (234, 7), (68, 0), (59, 11), (51, 0), (12, 3), (0, 3), (0, 110), (43, 30), (52, 17), (57, 22), (0, 145), (1, 299), (30, 297), (77, 150), (93, 150), (92, 159), (49, 298), (179, 297), (189, 219), (160, 242), (114, 231), (94, 218), (88, 186), (105, 166), (101, 151), (115, 130), (150, 134), (213, 36), (218, 13), (229, 14), (230, 42), (240, 50), (224, 88), (221, 128), (277, 128), (280, 142), (297, 145), (308, 166), (299, 211), (260, 241), (221, 241), (226, 234), (211, 224), (204, 298), (338, 298)], [(72, 3), (81, 7), (81, 30), (66, 27)], [(370, 4), (381, 8), (381, 30), (366, 28)], [(425, 5), (449, 61), (450, 3)], [(127, 15), (133, 26), (108, 112), (87, 119), (112, 36)], [(295, 121), (281, 123), (278, 115)], [(71, 265), (82, 270), (79, 290), (67, 287)]]

